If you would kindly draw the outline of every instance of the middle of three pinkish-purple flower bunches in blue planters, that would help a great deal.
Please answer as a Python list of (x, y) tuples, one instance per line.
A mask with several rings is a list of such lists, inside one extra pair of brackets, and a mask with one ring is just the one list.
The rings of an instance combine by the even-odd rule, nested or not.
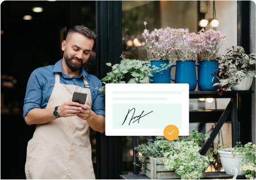
[(172, 37), (170, 50), (174, 55), (175, 60), (194, 61), (197, 53), (200, 52), (200, 47), (197, 45), (197, 35), (188, 29), (165, 29)]

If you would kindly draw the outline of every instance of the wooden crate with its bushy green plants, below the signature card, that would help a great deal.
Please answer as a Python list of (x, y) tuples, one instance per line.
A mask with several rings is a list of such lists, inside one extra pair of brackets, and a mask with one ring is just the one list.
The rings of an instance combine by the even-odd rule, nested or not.
[(204, 136), (194, 129), (192, 132), (193, 135), (179, 136), (174, 141), (157, 137), (155, 145), (148, 142), (148, 144), (137, 146), (135, 149), (141, 154), (139, 161), (143, 174), (151, 179), (200, 179), (204, 177), (205, 169), (214, 159), (212, 154), (202, 157), (198, 143), (210, 136)]

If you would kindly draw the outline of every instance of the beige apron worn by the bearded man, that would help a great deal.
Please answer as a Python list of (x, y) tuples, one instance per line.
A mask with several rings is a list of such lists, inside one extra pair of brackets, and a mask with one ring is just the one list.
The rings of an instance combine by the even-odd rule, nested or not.
[[(86, 77), (83, 79), (85, 87), (89, 87)], [(90, 87), (60, 84), (60, 73), (55, 73), (55, 86), (46, 108), (72, 99), (74, 91), (87, 93), (86, 104), (92, 106)], [(86, 120), (72, 116), (39, 124), (27, 145), (26, 178), (95, 179), (91, 157), (90, 127)]]

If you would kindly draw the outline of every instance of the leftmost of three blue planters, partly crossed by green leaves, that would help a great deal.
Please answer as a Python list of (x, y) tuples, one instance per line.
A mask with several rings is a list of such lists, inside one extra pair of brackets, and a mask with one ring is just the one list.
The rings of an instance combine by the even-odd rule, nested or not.
[[(155, 65), (161, 68), (160, 64), (169, 65), (169, 61), (151, 61), (151, 67)], [(161, 73), (152, 72), (152, 75), (151, 79), (153, 81), (151, 81), (151, 83), (170, 83), (170, 67), (165, 70), (161, 70)]]

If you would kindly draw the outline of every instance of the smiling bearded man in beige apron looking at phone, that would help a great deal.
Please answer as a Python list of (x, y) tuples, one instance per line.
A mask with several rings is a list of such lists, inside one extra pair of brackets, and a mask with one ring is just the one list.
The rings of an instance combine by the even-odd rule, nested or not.
[[(96, 35), (83, 26), (68, 31), (63, 59), (32, 72), (23, 107), (27, 124), (37, 124), (27, 146), (27, 179), (95, 179), (90, 127), (105, 132), (101, 81), (88, 74)], [(72, 102), (74, 91), (87, 93), (86, 104)]]

